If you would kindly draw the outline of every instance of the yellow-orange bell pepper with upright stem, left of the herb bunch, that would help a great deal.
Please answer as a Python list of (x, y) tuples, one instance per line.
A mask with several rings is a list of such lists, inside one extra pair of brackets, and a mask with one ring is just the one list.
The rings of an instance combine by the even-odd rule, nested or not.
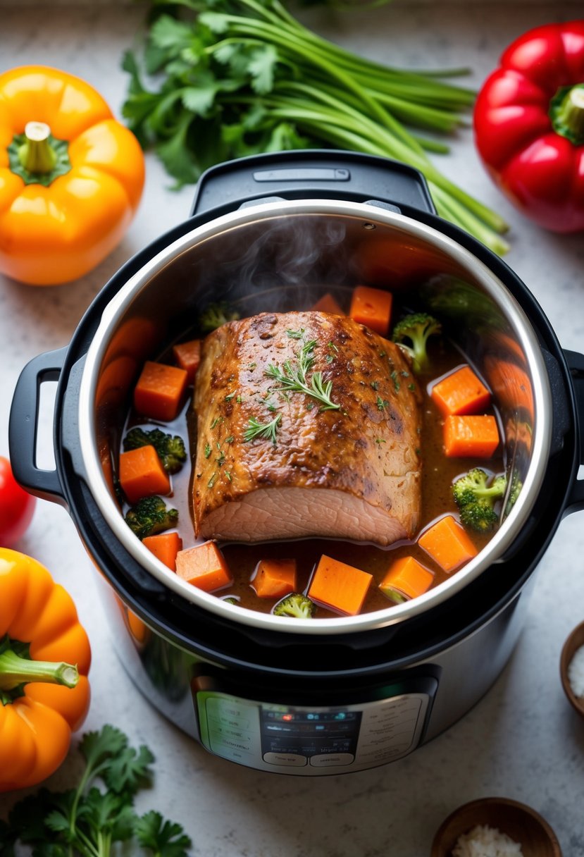
[(85, 81), (45, 66), (0, 75), (0, 272), (57, 285), (120, 242), (144, 155)]

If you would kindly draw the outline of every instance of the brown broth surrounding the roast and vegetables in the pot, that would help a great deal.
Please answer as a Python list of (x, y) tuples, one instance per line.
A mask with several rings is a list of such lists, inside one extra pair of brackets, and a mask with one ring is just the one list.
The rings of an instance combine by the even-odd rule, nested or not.
[[(170, 363), (170, 353), (165, 354), (161, 359)], [(434, 519), (443, 516), (446, 512), (451, 512), (456, 516), (456, 504), (452, 497), (451, 486), (457, 476), (466, 473), (473, 467), (481, 467), (483, 470), (492, 473), (499, 473), (504, 470), (504, 461), (499, 451), (498, 454), (488, 460), (484, 458), (447, 458), (444, 455), (442, 440), (444, 420), (428, 393), (428, 387), (433, 381), (456, 369), (464, 362), (460, 352), (446, 342), (439, 349), (432, 351), (432, 375), (420, 376), (419, 378), (423, 382), (421, 385), (423, 399), (421, 404), (422, 507), (420, 532), (425, 530)], [(158, 425), (166, 432), (179, 434), (185, 440), (188, 439), (191, 455), (182, 470), (172, 476), (173, 491), (166, 498), (167, 502), (179, 512), (178, 530), (182, 536), (183, 548), (193, 547), (197, 543), (194, 537), (192, 511), (194, 464), (192, 455), (196, 446), (195, 419), (191, 407), (192, 392), (191, 389), (188, 401), (175, 421), (172, 423), (155, 423), (152, 421), (150, 423), (150, 428)], [(491, 408), (490, 412), (496, 415), (494, 409)], [(126, 434), (128, 428), (132, 428), (134, 425), (149, 427), (148, 421), (138, 417), (134, 411), (130, 411), (122, 436)], [(478, 550), (485, 547), (491, 535), (478, 534), (468, 530), (468, 536)], [(355, 566), (355, 568), (369, 572), (373, 576), (373, 583), (369, 587), (366, 601), (361, 610), (362, 613), (395, 606), (394, 602), (390, 601), (378, 589), (378, 584), (384, 578), (391, 563), (401, 557), (413, 556), (421, 565), (432, 571), (434, 575), (432, 587), (444, 582), (450, 576), (417, 545), (415, 540), (412, 542), (396, 542), (388, 548), (380, 548), (366, 542), (347, 542), (341, 539), (297, 539), (288, 542), (259, 542), (255, 544), (226, 543), (220, 547), (234, 576), (234, 583), (229, 589), (217, 591), (215, 594), (220, 598), (233, 597), (242, 607), (258, 610), (260, 613), (270, 613), (279, 600), (259, 598), (250, 584), (256, 566), (262, 559), (294, 558), (297, 566), (297, 589), (300, 592), (307, 591), (313, 570), (323, 554), (340, 560), (349, 566)], [(317, 618), (325, 618), (339, 614), (318, 607), (315, 615)]]

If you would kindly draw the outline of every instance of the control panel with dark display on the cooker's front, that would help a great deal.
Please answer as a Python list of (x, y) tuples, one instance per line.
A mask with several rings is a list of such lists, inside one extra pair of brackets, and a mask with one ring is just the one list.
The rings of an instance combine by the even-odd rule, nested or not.
[[(424, 734), (434, 678), (378, 688), (383, 698), (290, 705), (241, 698), (197, 682), (195, 709), (207, 750), (259, 770), (318, 776), (365, 770), (414, 750)], [(379, 694), (381, 695), (381, 694)]]

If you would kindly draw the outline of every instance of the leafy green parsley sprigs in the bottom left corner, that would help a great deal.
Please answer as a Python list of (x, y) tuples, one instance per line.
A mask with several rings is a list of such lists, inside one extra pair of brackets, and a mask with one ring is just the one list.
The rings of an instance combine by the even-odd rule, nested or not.
[(146, 746), (135, 750), (106, 725), (86, 733), (79, 749), (86, 764), (76, 788), (41, 788), (15, 804), (8, 823), (0, 820), (0, 857), (15, 857), (17, 842), (32, 846), (33, 857), (109, 857), (114, 842), (137, 843), (154, 857), (188, 857), (192, 843), (180, 824), (134, 812), (134, 795), (152, 778)]

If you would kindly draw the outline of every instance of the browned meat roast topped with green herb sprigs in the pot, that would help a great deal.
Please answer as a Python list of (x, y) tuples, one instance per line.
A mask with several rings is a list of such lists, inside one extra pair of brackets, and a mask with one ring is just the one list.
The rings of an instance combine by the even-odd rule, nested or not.
[(367, 327), (321, 312), (229, 321), (203, 344), (194, 407), (197, 536), (414, 535), (419, 394), (408, 358)]

